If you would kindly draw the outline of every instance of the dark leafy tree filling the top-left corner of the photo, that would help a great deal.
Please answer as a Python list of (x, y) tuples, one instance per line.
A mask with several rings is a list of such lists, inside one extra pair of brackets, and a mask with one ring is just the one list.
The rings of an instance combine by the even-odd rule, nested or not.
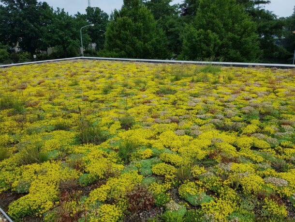
[(0, 41), (31, 54), (42, 49), (42, 31), (52, 19), (52, 8), (37, 0), (0, 2)]

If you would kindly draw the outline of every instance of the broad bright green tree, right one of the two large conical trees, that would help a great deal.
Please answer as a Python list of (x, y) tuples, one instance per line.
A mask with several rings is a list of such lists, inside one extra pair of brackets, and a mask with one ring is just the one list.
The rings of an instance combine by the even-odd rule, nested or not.
[(255, 23), (236, 0), (201, 0), (194, 22), (186, 28), (180, 58), (255, 62), (261, 53), (255, 31)]

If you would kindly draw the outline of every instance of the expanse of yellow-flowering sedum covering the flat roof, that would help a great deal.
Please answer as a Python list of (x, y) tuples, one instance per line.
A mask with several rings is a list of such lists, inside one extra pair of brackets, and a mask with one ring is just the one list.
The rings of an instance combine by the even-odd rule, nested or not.
[[(75, 60), (1, 69), (0, 193), (4, 202), (23, 195), (9, 215), (128, 220), (127, 194), (141, 184), (156, 206), (178, 190), (181, 213), (190, 203), (208, 221), (290, 220), (281, 203), (295, 193), (294, 70), (207, 68)], [(73, 199), (65, 193), (81, 194), (77, 183), (87, 192)]]

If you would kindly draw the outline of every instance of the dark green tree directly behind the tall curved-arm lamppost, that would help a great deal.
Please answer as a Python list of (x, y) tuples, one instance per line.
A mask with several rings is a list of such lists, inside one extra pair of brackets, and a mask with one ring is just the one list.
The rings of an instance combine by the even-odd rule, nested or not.
[[(87, 21), (70, 16), (58, 8), (44, 32), (44, 44), (60, 49), (59, 57), (75, 56), (76, 49), (80, 47), (80, 28), (85, 25), (88, 25)], [(90, 43), (86, 32), (83, 32), (83, 43), (85, 46)]]

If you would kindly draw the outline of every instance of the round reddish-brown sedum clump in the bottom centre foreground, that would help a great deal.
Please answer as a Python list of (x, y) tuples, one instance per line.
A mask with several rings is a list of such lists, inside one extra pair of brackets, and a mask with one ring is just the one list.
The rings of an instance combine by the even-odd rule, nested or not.
[(132, 212), (142, 209), (150, 209), (154, 203), (153, 194), (146, 186), (137, 185), (127, 192), (128, 207)]

